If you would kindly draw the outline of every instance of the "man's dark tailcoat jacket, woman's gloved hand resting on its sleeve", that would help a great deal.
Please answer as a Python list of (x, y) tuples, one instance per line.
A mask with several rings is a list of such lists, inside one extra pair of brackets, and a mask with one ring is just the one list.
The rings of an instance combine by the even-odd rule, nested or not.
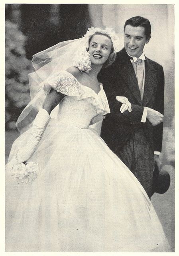
[[(163, 114), (164, 74), (158, 63), (146, 58), (146, 77), (143, 102), (140, 97), (134, 68), (125, 48), (117, 53), (112, 66), (104, 68), (98, 75), (102, 82), (110, 106), (110, 114), (103, 120), (101, 136), (114, 152), (118, 152), (124, 144), (134, 136), (139, 128), (143, 128), (152, 150), (160, 151), (162, 146), (163, 123), (152, 126), (146, 120), (142, 123), (144, 106), (153, 108)], [(132, 112), (121, 114), (121, 103), (116, 96), (125, 96), (132, 104)]]

